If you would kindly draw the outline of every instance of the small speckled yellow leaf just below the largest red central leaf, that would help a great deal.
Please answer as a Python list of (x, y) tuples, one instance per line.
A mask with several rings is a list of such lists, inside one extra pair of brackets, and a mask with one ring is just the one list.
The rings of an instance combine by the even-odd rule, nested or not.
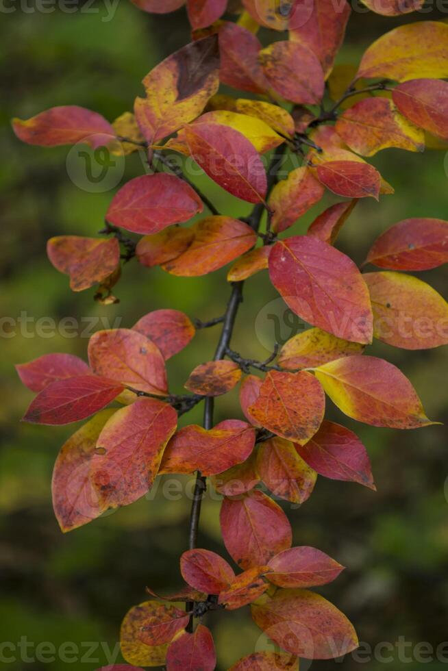
[(288, 370), (321, 366), (340, 357), (362, 354), (364, 345), (336, 338), (321, 329), (307, 329), (293, 335), (279, 352), (279, 365)]

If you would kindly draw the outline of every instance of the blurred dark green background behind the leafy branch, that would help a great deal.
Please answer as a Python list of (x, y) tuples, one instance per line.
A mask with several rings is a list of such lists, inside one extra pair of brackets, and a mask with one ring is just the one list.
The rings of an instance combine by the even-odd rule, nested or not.
[[(40, 6), (54, 9), (51, 4)], [(19, 422), (32, 393), (18, 382), (13, 364), (53, 351), (85, 357), (86, 329), (132, 327), (140, 316), (160, 307), (212, 318), (223, 313), (229, 294), (225, 269), (207, 277), (179, 279), (160, 269), (143, 268), (134, 260), (125, 266), (114, 291), (121, 302), (102, 307), (92, 300), (93, 290), (71, 293), (68, 279), (47, 261), (45, 243), (50, 236), (97, 234), (112, 191), (86, 190), (69, 148), (21, 144), (12, 134), (10, 118), (28, 118), (53, 105), (77, 104), (112, 121), (132, 109), (142, 77), (188, 42), (184, 10), (151, 16), (126, 0), (113, 9), (99, 1), (75, 5), (75, 10), (71, 5), (71, 14), (55, 6), (53, 12), (42, 12), (22, 0), (8, 5), (14, 8), (8, 14), (1, 10), (5, 16), (0, 24), (1, 316), (10, 318), (2, 320), (0, 336), (0, 659), (11, 671), (90, 671), (121, 659), (116, 649), (119, 625), (129, 607), (145, 600), (145, 585), (161, 592), (179, 585), (178, 557), (186, 548), (189, 514), (186, 498), (170, 501), (161, 484), (138, 503), (62, 535), (51, 509), (51, 471), (58, 449), (75, 427)], [(353, 13), (338, 62), (358, 62), (371, 41), (391, 27), (436, 18), (445, 15), (431, 10), (388, 19), (371, 12)], [(264, 41), (277, 38), (267, 31), (263, 34)], [(358, 262), (375, 237), (402, 218), (448, 218), (445, 151), (426, 151), (422, 156), (387, 150), (373, 163), (396, 193), (379, 204), (371, 199), (360, 203), (345, 225), (338, 247)], [(132, 155), (125, 168), (116, 169), (122, 167), (123, 182), (142, 173), (142, 157)], [(199, 177), (199, 182), (222, 212), (236, 216), (249, 212), (247, 204), (229, 197), (208, 179)], [(326, 197), (293, 233), (303, 231), (334, 200)], [(442, 268), (420, 277), (446, 296), (445, 273)], [(266, 357), (274, 338), (266, 313), (273, 310), (280, 317), (284, 314), (266, 275), (249, 280), (234, 349)], [(65, 318), (77, 321), (61, 322)], [(71, 337), (64, 336), (61, 323), (64, 329), (71, 325)], [(285, 329), (284, 339), (292, 335)], [(210, 359), (216, 337), (216, 327), (201, 331), (188, 349), (169, 362), (174, 392), (182, 391), (195, 365)], [(430, 418), (443, 421), (448, 402), (446, 349), (412, 353), (375, 343), (371, 353), (400, 366)], [(236, 393), (216, 403), (216, 422), (239, 416)], [(377, 648), (376, 657), (379, 653), (388, 661), (369, 658), (364, 647), (360, 657), (364, 666), (372, 671), (384, 664), (446, 668), (448, 644), (439, 649), (445, 663), (428, 653), (430, 648), (414, 649), (423, 642), (437, 648), (448, 641), (446, 430), (440, 426), (412, 432), (373, 429), (344, 418), (331, 403), (328, 416), (356, 431), (366, 444), (378, 492), (319, 478), (303, 509), (284, 505), (293, 523), (295, 544), (319, 547), (347, 566), (340, 579), (321, 592), (347, 613), (362, 642), (372, 648), (386, 642), (386, 648)], [(188, 422), (200, 421), (198, 407)], [(199, 546), (227, 556), (221, 546), (218, 514), (219, 502), (208, 495)], [(221, 670), (244, 654), (269, 648), (248, 609), (214, 614), (208, 624)], [(51, 645), (57, 650), (54, 661), (49, 661)], [(415, 650), (421, 657), (416, 658)], [(313, 663), (312, 669), (351, 671), (360, 664), (349, 656), (338, 662)], [(306, 670), (309, 664), (301, 668)]]

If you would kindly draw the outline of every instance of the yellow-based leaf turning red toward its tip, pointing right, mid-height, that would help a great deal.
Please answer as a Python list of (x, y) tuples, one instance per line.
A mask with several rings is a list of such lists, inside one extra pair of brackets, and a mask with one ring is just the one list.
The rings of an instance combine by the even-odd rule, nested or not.
[(360, 422), (391, 429), (433, 423), (410, 381), (384, 359), (355, 355), (329, 362), (314, 373), (333, 403)]

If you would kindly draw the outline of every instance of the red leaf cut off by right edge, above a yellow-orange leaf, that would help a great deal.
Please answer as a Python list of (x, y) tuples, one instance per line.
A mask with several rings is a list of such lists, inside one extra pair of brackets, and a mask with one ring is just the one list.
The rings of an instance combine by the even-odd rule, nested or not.
[(448, 221), (403, 219), (373, 243), (366, 263), (388, 270), (430, 270), (448, 262)]

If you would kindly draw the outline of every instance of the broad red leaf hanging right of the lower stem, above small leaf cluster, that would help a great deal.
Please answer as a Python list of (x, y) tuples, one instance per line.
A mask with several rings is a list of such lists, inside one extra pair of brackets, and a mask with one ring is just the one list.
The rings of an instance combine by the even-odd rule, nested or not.
[(227, 552), (244, 569), (264, 566), (293, 542), (284, 511), (259, 490), (225, 498), (220, 521)]

